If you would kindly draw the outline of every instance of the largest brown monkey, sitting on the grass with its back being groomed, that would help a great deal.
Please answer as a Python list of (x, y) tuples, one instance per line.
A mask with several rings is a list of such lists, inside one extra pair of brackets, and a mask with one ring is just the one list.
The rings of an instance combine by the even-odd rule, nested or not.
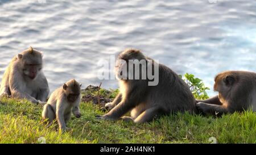
[[(98, 119), (117, 120), (131, 110), (131, 117), (123, 116), (122, 119), (143, 123), (160, 114), (196, 110), (196, 100), (188, 85), (167, 66), (158, 64), (135, 49), (123, 51), (118, 56), (118, 61), (115, 73), (119, 79), (120, 93), (112, 103), (106, 104), (106, 108), (112, 110), (108, 114), (97, 116)], [(146, 64), (138, 65), (135, 64), (136, 61), (144, 61)], [(128, 66), (123, 62), (128, 62)], [(139, 66), (137, 70), (136, 65)], [(155, 78), (158, 78), (156, 85), (148, 83), (152, 82), (148, 74), (150, 66)], [(125, 70), (128, 72), (124, 72)], [(138, 70), (136, 78), (135, 72)], [(145, 74), (146, 78), (143, 79)]]

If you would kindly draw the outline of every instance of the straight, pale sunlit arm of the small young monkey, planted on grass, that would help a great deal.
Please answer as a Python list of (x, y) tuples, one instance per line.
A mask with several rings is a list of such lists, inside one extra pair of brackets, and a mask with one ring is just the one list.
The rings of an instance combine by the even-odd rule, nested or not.
[(59, 124), (59, 128), (64, 131), (65, 129), (67, 129), (66, 124), (65, 124), (65, 120), (64, 120), (64, 111), (65, 108), (67, 108), (65, 105), (67, 103), (64, 102), (64, 99), (58, 99), (57, 100), (57, 104), (56, 104), (56, 117), (57, 117), (57, 122)]

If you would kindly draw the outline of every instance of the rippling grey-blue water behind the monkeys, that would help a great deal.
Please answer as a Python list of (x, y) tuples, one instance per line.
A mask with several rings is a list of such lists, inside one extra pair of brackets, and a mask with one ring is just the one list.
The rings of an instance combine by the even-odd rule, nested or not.
[(97, 78), (96, 62), (125, 48), (193, 73), (212, 89), (218, 72), (256, 72), (256, 1), (0, 0), (1, 77), (30, 45), (44, 52), (51, 91), (70, 78), (118, 87)]

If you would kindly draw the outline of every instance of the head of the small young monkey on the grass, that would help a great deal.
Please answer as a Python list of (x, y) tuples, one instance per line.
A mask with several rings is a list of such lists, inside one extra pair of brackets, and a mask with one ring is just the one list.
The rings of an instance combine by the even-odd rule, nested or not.
[(76, 82), (75, 79), (63, 85), (65, 94), (67, 95), (68, 102), (75, 102), (81, 96), (81, 84)]

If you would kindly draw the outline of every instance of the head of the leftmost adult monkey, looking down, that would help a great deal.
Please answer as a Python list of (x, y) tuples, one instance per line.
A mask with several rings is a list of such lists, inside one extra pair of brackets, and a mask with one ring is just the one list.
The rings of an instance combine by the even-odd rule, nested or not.
[(24, 52), (18, 55), (18, 60), (21, 62), (23, 74), (30, 79), (35, 79), (43, 68), (40, 52)]

